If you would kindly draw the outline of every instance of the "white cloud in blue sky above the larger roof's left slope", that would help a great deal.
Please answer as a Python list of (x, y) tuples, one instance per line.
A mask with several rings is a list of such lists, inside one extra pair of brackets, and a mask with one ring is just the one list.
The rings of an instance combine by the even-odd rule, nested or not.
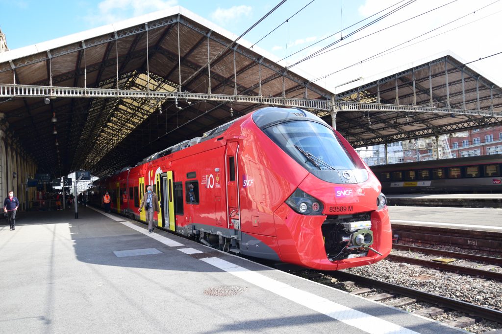
[(177, 3), (177, 0), (103, 0), (97, 5), (97, 12), (90, 13), (86, 19), (92, 26), (109, 24), (168, 9)]

